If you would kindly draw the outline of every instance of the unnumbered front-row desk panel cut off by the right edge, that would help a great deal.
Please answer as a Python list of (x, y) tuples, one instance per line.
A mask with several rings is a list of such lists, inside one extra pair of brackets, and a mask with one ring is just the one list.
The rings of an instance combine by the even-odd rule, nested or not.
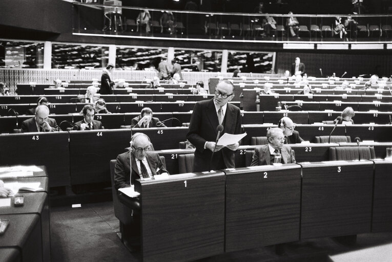
[(372, 232), (392, 231), (392, 162), (375, 163)]

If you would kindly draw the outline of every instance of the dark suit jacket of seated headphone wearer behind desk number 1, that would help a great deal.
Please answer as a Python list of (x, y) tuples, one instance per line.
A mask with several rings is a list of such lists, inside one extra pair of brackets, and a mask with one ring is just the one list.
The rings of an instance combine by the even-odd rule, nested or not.
[[(132, 158), (132, 177), (130, 156)], [(147, 162), (149, 163), (151, 172), (154, 176), (156, 174), (168, 173), (166, 168), (164, 168), (163, 162), (160, 160), (158, 154), (153, 152), (147, 152), (146, 158)], [(136, 179), (140, 179), (140, 174), (139, 170), (137, 169), (135, 157), (132, 153), (128, 151), (118, 155), (116, 159), (116, 165), (114, 166), (114, 187), (116, 188), (116, 190), (122, 187), (129, 187), (130, 178), (132, 180), (132, 184), (134, 184)]]

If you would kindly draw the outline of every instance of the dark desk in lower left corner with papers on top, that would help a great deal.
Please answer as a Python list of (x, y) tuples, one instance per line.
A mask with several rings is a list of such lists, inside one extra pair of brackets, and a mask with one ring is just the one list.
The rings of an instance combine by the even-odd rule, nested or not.
[(50, 261), (50, 216), (48, 177), (45, 167), (34, 172), (33, 177), (2, 179), (9, 182), (40, 182), (43, 188), (37, 192), (23, 192), (24, 205), (0, 207), (0, 219), (10, 224), (0, 235), (0, 261)]

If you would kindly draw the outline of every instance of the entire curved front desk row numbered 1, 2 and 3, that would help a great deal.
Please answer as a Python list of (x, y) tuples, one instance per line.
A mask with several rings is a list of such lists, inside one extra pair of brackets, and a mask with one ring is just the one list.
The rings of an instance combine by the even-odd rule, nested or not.
[(138, 180), (143, 261), (390, 231), (390, 170), (390, 161), (335, 161)]

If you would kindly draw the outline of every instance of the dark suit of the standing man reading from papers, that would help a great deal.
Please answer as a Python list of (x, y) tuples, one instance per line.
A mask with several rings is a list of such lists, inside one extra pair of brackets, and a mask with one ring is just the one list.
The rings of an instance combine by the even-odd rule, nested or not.
[[(224, 115), (223, 132), (228, 134), (241, 133), (241, 113), (237, 106), (228, 103), (226, 114)], [(218, 132), (216, 127), (219, 125), (218, 116), (215, 111), (214, 99), (199, 101), (193, 108), (191, 122), (189, 124), (187, 139), (195, 147), (195, 158), (193, 171), (207, 171), (210, 165), (212, 152), (204, 149), (206, 141), (215, 141)], [(225, 168), (235, 167), (234, 151), (227, 147), (214, 153), (212, 169), (221, 168), (218, 163), (224, 162)]]

